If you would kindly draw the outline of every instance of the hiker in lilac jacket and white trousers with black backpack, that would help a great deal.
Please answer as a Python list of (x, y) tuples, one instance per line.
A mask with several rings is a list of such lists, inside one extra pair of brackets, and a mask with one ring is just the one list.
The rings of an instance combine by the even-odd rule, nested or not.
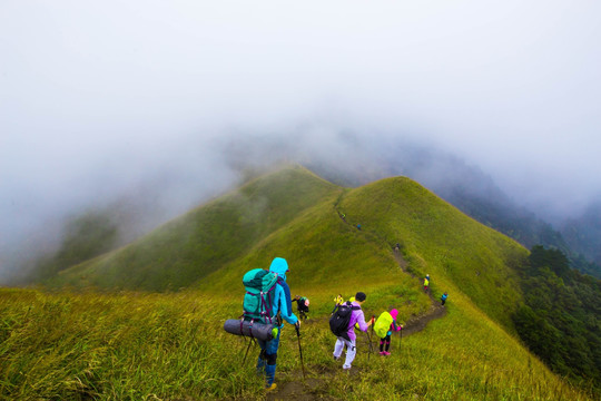
[[(365, 323), (365, 316), (361, 305), (365, 302), (366, 295), (358, 292), (354, 302), (346, 302), (338, 306), (336, 314), (329, 320), (329, 329), (336, 334), (336, 345), (334, 346), (334, 360), (338, 360), (346, 346), (346, 359), (343, 369), (348, 371), (357, 353), (355, 324), (361, 331), (367, 332), (372, 321)], [(347, 313), (347, 314), (346, 314)], [(347, 323), (348, 322), (348, 323)]]

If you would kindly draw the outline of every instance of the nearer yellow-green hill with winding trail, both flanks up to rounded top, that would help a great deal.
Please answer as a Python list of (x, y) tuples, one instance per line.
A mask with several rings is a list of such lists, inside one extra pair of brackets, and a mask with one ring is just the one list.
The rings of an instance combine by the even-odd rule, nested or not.
[[(338, 213), (345, 213), (346, 221)], [(412, 273), (431, 275), (436, 296), (461, 291), (511, 330), (510, 313), (522, 296), (512, 264), (522, 263), (528, 251), (404, 177), (346, 189), (336, 199), (307, 208), (244, 257), (208, 275), (199, 287), (239, 288), (248, 268), (267, 267), (275, 255), (288, 261), (288, 280), (297, 292), (328, 286), (334, 296), (416, 283), (401, 272), (392, 252), (396, 243)], [(423, 310), (427, 301), (421, 301)]]

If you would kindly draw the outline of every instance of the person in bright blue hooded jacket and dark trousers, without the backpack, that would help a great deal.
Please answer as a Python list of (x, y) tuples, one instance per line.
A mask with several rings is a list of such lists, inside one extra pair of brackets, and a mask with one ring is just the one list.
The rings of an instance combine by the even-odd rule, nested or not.
[[(290, 302), (290, 288), (286, 284), (286, 272), (288, 271), (288, 263), (285, 258), (276, 257), (273, 260), (272, 265), (269, 266), (269, 272), (277, 274), (277, 284), (275, 288), (274, 303), (272, 309), (272, 315), (279, 315), (289, 324), (300, 325), (298, 317), (292, 312), (292, 302)], [(262, 373), (265, 371), (267, 378), (267, 390), (274, 390), (276, 384), (274, 383), (275, 371), (276, 371), (276, 359), (277, 359), (277, 349), (279, 348), (279, 334), (284, 323), (279, 320), (277, 326), (277, 335), (274, 335), (274, 339), (270, 341), (257, 340), (260, 346), (260, 353), (257, 361), (257, 372)], [(274, 329), (275, 330), (275, 329)]]

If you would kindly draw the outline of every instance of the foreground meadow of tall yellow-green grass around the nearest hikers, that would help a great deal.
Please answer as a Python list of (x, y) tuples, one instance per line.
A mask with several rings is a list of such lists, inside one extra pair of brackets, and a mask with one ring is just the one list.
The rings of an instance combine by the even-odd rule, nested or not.
[[(372, 288), (365, 312), (377, 312)], [(329, 288), (312, 291), (312, 305)], [(42, 293), (0, 288), (2, 400), (265, 400), (252, 348), (225, 333), (239, 296), (207, 293)], [(329, 305), (329, 303), (328, 303)], [(364, 334), (348, 375), (333, 361), (329, 313), (312, 310), (302, 326), (303, 380), (294, 330), (283, 331), (276, 382), (290, 400), (591, 400), (455, 293), (445, 317), (392, 355), (368, 354)]]

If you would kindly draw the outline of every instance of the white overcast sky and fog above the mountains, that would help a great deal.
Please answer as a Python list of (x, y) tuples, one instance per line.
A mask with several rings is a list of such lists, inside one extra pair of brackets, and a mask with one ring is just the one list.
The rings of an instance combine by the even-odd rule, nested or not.
[(220, 190), (216, 138), (305, 124), (577, 209), (601, 194), (600, 20), (597, 0), (1, 0), (0, 252), (166, 169)]

